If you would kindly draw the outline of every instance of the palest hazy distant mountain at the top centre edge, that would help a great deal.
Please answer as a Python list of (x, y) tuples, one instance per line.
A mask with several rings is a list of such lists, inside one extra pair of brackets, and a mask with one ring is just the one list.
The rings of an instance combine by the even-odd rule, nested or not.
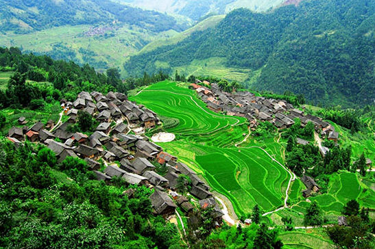
[(207, 14), (226, 14), (237, 8), (264, 12), (280, 5), (284, 0), (112, 0), (160, 12), (180, 14), (199, 20)]

